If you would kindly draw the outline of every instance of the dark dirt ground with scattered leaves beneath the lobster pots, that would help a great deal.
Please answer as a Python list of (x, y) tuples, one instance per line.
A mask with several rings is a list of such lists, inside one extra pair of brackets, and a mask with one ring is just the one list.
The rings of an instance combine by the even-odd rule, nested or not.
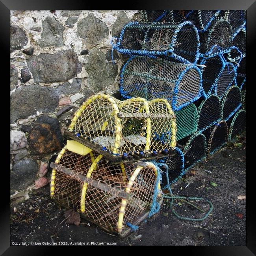
[[(159, 213), (141, 223), (136, 232), (121, 239), (84, 219), (81, 219), (79, 226), (65, 224), (65, 209), (50, 199), (50, 187), (46, 186), (33, 192), (24, 202), (11, 202), (10, 244), (32, 241), (34, 245), (42, 245), (43, 242), (59, 245), (70, 245), (70, 242), (89, 242), (90, 245), (116, 242), (117, 246), (245, 246), (245, 150), (224, 148), (192, 170), (174, 184), (173, 194), (209, 199), (214, 208), (204, 221), (177, 219), (169, 210), (169, 201), (165, 199)], [(16, 212), (13, 211), (14, 207), (17, 208)], [(191, 207), (185, 207), (183, 203), (175, 202), (174, 207), (181, 215), (191, 216), (193, 213)]]

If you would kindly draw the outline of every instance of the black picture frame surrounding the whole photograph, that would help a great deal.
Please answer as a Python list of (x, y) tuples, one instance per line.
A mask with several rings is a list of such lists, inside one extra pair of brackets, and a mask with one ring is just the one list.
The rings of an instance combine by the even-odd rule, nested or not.
[[(127, 4), (127, 6), (126, 6)], [(97, 6), (98, 5), (98, 6)], [(0, 42), (2, 47), (0, 48), (1, 52), (1, 61), (3, 67), (6, 68), (6, 72), (2, 71), (2, 78), (5, 77), (7, 80), (4, 87), (8, 93), (8, 83), (9, 83), (9, 65), (7, 64), (9, 61), (9, 15), (10, 10), (12, 9), (20, 9), (20, 10), (39, 10), (39, 9), (246, 9), (247, 10), (247, 83), (254, 83), (253, 78), (253, 71), (252, 69), (255, 67), (255, 58), (254, 52), (255, 49), (255, 38), (256, 38), (256, 29), (255, 29), (255, 16), (256, 16), (256, 2), (254, 0), (169, 0), (169, 1), (154, 1), (154, 0), (147, 0), (147, 1), (128, 1), (128, 2), (85, 2), (85, 1), (70, 1), (70, 0), (0, 0), (0, 26), (1, 26), (1, 36)], [(6, 62), (6, 64), (5, 64)], [(249, 64), (251, 63), (251, 64)], [(255, 73), (255, 71), (254, 71)], [(250, 96), (252, 93), (247, 91), (247, 95)], [(3, 84), (2, 84), (3, 86)], [(248, 93), (249, 92), (249, 93)], [(2, 95), (2, 99), (5, 98)], [(247, 102), (249, 100), (247, 99)], [(249, 105), (248, 105), (249, 104)], [(247, 109), (247, 117), (250, 116), (250, 103), (248, 103)], [(3, 106), (2, 106), (3, 107)], [(253, 108), (253, 107), (252, 107)], [(3, 109), (3, 111), (6, 111)], [(7, 111), (6, 111), (7, 112)], [(3, 117), (4, 118), (4, 117)], [(8, 118), (8, 113), (7, 113)], [(5, 127), (5, 122), (2, 121), (2, 135), (5, 131), (8, 130), (8, 127)], [(6, 122), (7, 123), (7, 122)], [(6, 124), (7, 126), (8, 124)], [(250, 137), (250, 129), (247, 128), (247, 138)], [(3, 154), (2, 154), (2, 162), (6, 162), (7, 167), (2, 168), (2, 177), (1, 177), (1, 184), (8, 183), (9, 174), (7, 172), (9, 150), (7, 149), (8, 143), (8, 136), (1, 136), (7, 137), (6, 144), (2, 144)], [(247, 153), (249, 152), (250, 148), (249, 139), (247, 139)], [(6, 145), (6, 146), (5, 146)], [(6, 148), (5, 148), (6, 147)], [(249, 148), (248, 148), (249, 147)], [(6, 150), (5, 150), (6, 149)], [(4, 155), (6, 154), (6, 158)], [(252, 160), (249, 160), (252, 161)], [(4, 166), (6, 166), (4, 165)], [(249, 166), (249, 164), (247, 163)], [(253, 165), (251, 165), (253, 166)], [(189, 255), (207, 255), (207, 256), (249, 256), (256, 254), (256, 221), (255, 221), (255, 214), (254, 214), (254, 183), (255, 180), (253, 179), (253, 169), (250, 169), (247, 173), (247, 246), (246, 247), (176, 247), (170, 250), (170, 254), (176, 253), (174, 249), (178, 252), (185, 252), (187, 251)], [(5, 175), (4, 175), (5, 174)], [(7, 177), (6, 177), (7, 176)], [(5, 182), (6, 181), (6, 182)], [(0, 217), (0, 234), (1, 234), (1, 241), (0, 241), (0, 254), (1, 255), (46, 255), (53, 252), (57, 252), (58, 254), (61, 253), (60, 247), (10, 247), (9, 242), (9, 187), (8, 185), (6, 188), (1, 186), (3, 190), (1, 193), (1, 217)], [(3, 200), (4, 199), (4, 200)], [(113, 248), (111, 247), (112, 252)], [(67, 248), (65, 247), (65, 252), (68, 253)], [(87, 251), (83, 251), (86, 253)], [(121, 251), (119, 251), (121, 252)], [(166, 252), (160, 252), (166, 253)]]

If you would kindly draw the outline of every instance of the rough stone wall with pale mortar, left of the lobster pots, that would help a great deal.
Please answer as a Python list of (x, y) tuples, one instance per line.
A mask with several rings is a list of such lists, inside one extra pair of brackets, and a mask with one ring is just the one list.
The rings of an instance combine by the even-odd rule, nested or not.
[(139, 11), (11, 11), (10, 192), (24, 196), (50, 180), (74, 111), (89, 96), (119, 94), (126, 61), (110, 41)]

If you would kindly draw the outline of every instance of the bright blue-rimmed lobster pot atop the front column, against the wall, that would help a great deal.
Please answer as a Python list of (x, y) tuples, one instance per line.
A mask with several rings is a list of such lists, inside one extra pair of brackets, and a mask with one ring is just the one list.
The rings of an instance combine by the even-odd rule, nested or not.
[(183, 58), (180, 60), (187, 61), (187, 63), (197, 61), (198, 47), (198, 32), (190, 22), (182, 24), (129, 23), (123, 28), (116, 45), (116, 49), (121, 53)]

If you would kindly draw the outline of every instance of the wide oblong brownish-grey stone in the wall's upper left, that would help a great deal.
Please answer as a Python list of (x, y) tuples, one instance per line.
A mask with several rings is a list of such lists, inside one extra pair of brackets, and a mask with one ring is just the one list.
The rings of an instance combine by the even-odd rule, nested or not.
[(73, 50), (39, 56), (27, 55), (26, 59), (35, 83), (66, 81), (73, 78), (78, 70), (78, 57)]

